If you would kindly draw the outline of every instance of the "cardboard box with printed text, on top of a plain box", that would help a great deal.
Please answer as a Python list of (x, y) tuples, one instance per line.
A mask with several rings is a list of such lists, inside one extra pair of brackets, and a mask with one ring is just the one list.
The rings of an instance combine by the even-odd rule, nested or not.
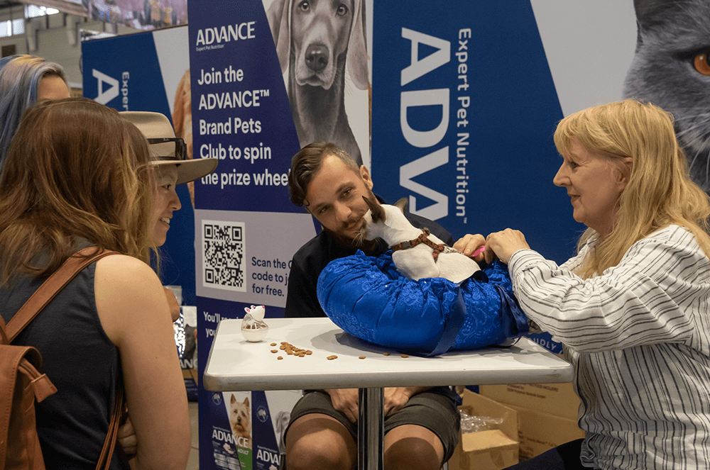
[(572, 382), (564, 384), (481, 385), (479, 393), (499, 403), (577, 419), (579, 397)]

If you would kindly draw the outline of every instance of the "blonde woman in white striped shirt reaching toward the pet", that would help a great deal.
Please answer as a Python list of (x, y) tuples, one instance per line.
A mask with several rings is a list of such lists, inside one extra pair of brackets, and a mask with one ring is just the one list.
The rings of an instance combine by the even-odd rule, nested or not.
[(574, 220), (587, 230), (557, 266), (517, 230), (492, 233), (520, 306), (575, 368), (584, 440), (515, 469), (701, 469), (710, 462), (710, 216), (672, 117), (621, 101), (555, 132)]

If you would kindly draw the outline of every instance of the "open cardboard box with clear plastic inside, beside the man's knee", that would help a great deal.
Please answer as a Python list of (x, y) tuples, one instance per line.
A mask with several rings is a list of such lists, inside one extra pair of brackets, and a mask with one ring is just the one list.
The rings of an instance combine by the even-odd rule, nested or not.
[(518, 463), (518, 413), (506, 405), (464, 391), (461, 410), (471, 416), (501, 418), (497, 429), (459, 436), (449, 470), (501, 470)]

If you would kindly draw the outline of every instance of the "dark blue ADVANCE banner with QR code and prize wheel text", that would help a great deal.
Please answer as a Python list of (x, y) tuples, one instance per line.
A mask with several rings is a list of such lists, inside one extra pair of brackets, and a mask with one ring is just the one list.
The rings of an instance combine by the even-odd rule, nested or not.
[[(266, 306), (266, 323), (283, 316), (291, 259), (317, 231), (290, 202), (291, 157), (312, 140), (331, 140), (368, 159), (368, 87), (362, 10), (334, 38), (336, 59), (317, 61), (320, 82), (308, 84), (297, 65), (305, 50), (292, 47), (292, 38), (322, 28), (292, 23), (292, 1), (192, 2), (188, 13), (193, 152), (219, 159), (214, 174), (195, 182), (201, 382), (220, 320), (243, 318), (244, 308), (258, 305)], [(358, 66), (344, 67), (337, 57), (354, 44)], [(200, 384), (200, 468), (278, 468), (284, 449), (275, 443), (283, 439), (259, 423), (271, 423), (269, 416), (288, 423), (295, 401), (259, 407), (261, 396), (212, 393)]]

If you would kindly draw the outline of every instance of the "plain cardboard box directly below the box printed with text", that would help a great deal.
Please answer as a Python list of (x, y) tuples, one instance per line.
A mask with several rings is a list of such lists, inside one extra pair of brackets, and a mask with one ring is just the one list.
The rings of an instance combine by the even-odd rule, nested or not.
[(576, 418), (562, 418), (538, 410), (508, 406), (518, 412), (520, 460), (530, 459), (560, 444), (584, 437)]

